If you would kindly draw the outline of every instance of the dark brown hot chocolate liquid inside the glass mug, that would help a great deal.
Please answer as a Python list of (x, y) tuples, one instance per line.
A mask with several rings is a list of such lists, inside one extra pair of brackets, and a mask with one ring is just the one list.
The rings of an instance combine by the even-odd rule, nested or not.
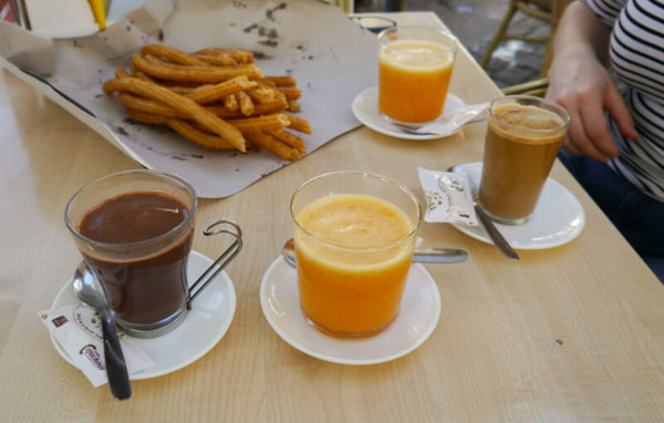
[[(169, 234), (189, 209), (177, 197), (158, 192), (129, 192), (108, 198), (85, 213), (79, 231), (97, 243), (126, 248), (127, 259), (85, 251), (117, 319), (155, 323), (177, 316), (187, 300), (186, 261), (191, 230)], [(142, 241), (173, 236), (163, 248), (136, 255)]]

